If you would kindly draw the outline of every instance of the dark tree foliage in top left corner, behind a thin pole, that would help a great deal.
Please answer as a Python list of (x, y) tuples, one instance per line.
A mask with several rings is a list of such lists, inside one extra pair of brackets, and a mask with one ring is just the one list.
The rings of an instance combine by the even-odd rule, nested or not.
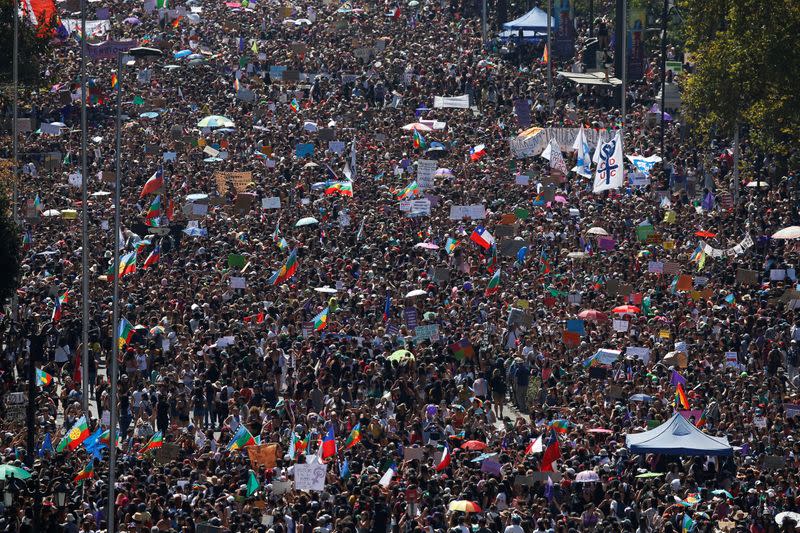
[[(0, 83), (12, 82), (14, 50), (14, 3), (0, 0)], [(49, 37), (38, 36), (27, 17), (19, 18), (19, 80), (35, 85), (41, 81), (40, 58), (49, 53)]]

